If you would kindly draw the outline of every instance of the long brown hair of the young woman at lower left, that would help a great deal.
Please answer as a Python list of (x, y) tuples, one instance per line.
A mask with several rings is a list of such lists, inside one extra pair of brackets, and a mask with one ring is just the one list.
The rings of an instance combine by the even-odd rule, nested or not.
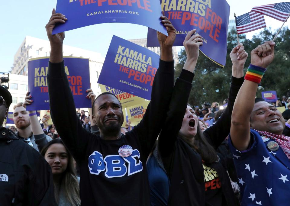
[[(63, 144), (63, 141), (60, 138), (51, 140), (43, 147), (43, 149), (41, 150), (41, 155), (44, 157), (48, 148), (52, 144), (57, 144), (57, 143)], [(66, 148), (66, 146), (64, 144), (63, 144), (63, 146)], [(66, 199), (70, 202), (70, 204), (72, 204), (73, 206), (75, 206), (75, 205), (77, 206), (77, 205), (81, 204), (81, 199), (79, 196), (79, 181), (76, 178), (76, 169), (75, 169), (74, 164), (73, 164), (72, 155), (69, 153), (67, 148), (66, 148), (66, 151), (68, 154), (68, 164), (67, 164), (66, 171), (63, 172), (63, 177), (61, 179), (60, 186), (64, 189)], [(55, 196), (56, 200), (58, 199), (57, 198), (58, 195), (59, 194), (55, 190), (54, 196)]]

